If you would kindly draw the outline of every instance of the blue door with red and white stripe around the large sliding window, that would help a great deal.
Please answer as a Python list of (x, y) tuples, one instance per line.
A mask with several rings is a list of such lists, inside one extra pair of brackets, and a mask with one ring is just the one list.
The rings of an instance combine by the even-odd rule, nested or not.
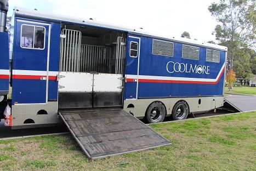
[[(41, 24), (42, 23), (42, 24)], [(46, 23), (45, 23), (46, 24)], [(13, 50), (13, 104), (45, 103), (47, 101), (49, 26), (42, 21), (15, 19)], [(21, 26), (44, 27), (44, 49), (26, 49), (20, 46)], [(39, 75), (37, 75), (36, 73)]]

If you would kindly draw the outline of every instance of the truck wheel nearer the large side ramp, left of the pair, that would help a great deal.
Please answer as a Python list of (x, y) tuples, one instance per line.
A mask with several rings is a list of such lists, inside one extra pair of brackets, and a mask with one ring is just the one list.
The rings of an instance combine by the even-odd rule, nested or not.
[(149, 107), (147, 107), (145, 121), (147, 123), (157, 123), (162, 122), (166, 116), (166, 107), (162, 102), (156, 101), (152, 102)]

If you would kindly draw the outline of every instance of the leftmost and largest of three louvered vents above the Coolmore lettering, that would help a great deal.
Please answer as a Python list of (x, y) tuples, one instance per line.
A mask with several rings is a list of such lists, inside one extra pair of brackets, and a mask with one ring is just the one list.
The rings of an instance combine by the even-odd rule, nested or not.
[(153, 39), (152, 54), (173, 56), (173, 42)]

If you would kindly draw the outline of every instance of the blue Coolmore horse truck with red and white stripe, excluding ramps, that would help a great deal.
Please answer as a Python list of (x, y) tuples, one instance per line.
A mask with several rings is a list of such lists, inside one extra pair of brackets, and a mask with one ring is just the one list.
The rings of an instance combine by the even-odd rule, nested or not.
[(9, 104), (13, 129), (54, 126), (68, 109), (119, 107), (156, 123), (223, 106), (226, 47), (92, 19), (15, 8), (9, 68), (4, 2), (0, 116)]

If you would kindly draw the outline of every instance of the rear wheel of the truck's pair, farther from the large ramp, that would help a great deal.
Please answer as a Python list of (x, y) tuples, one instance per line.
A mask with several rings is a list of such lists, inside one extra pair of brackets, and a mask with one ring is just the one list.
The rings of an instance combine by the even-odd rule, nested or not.
[(183, 120), (189, 115), (189, 105), (185, 101), (179, 101), (173, 106), (172, 118), (174, 121)]

